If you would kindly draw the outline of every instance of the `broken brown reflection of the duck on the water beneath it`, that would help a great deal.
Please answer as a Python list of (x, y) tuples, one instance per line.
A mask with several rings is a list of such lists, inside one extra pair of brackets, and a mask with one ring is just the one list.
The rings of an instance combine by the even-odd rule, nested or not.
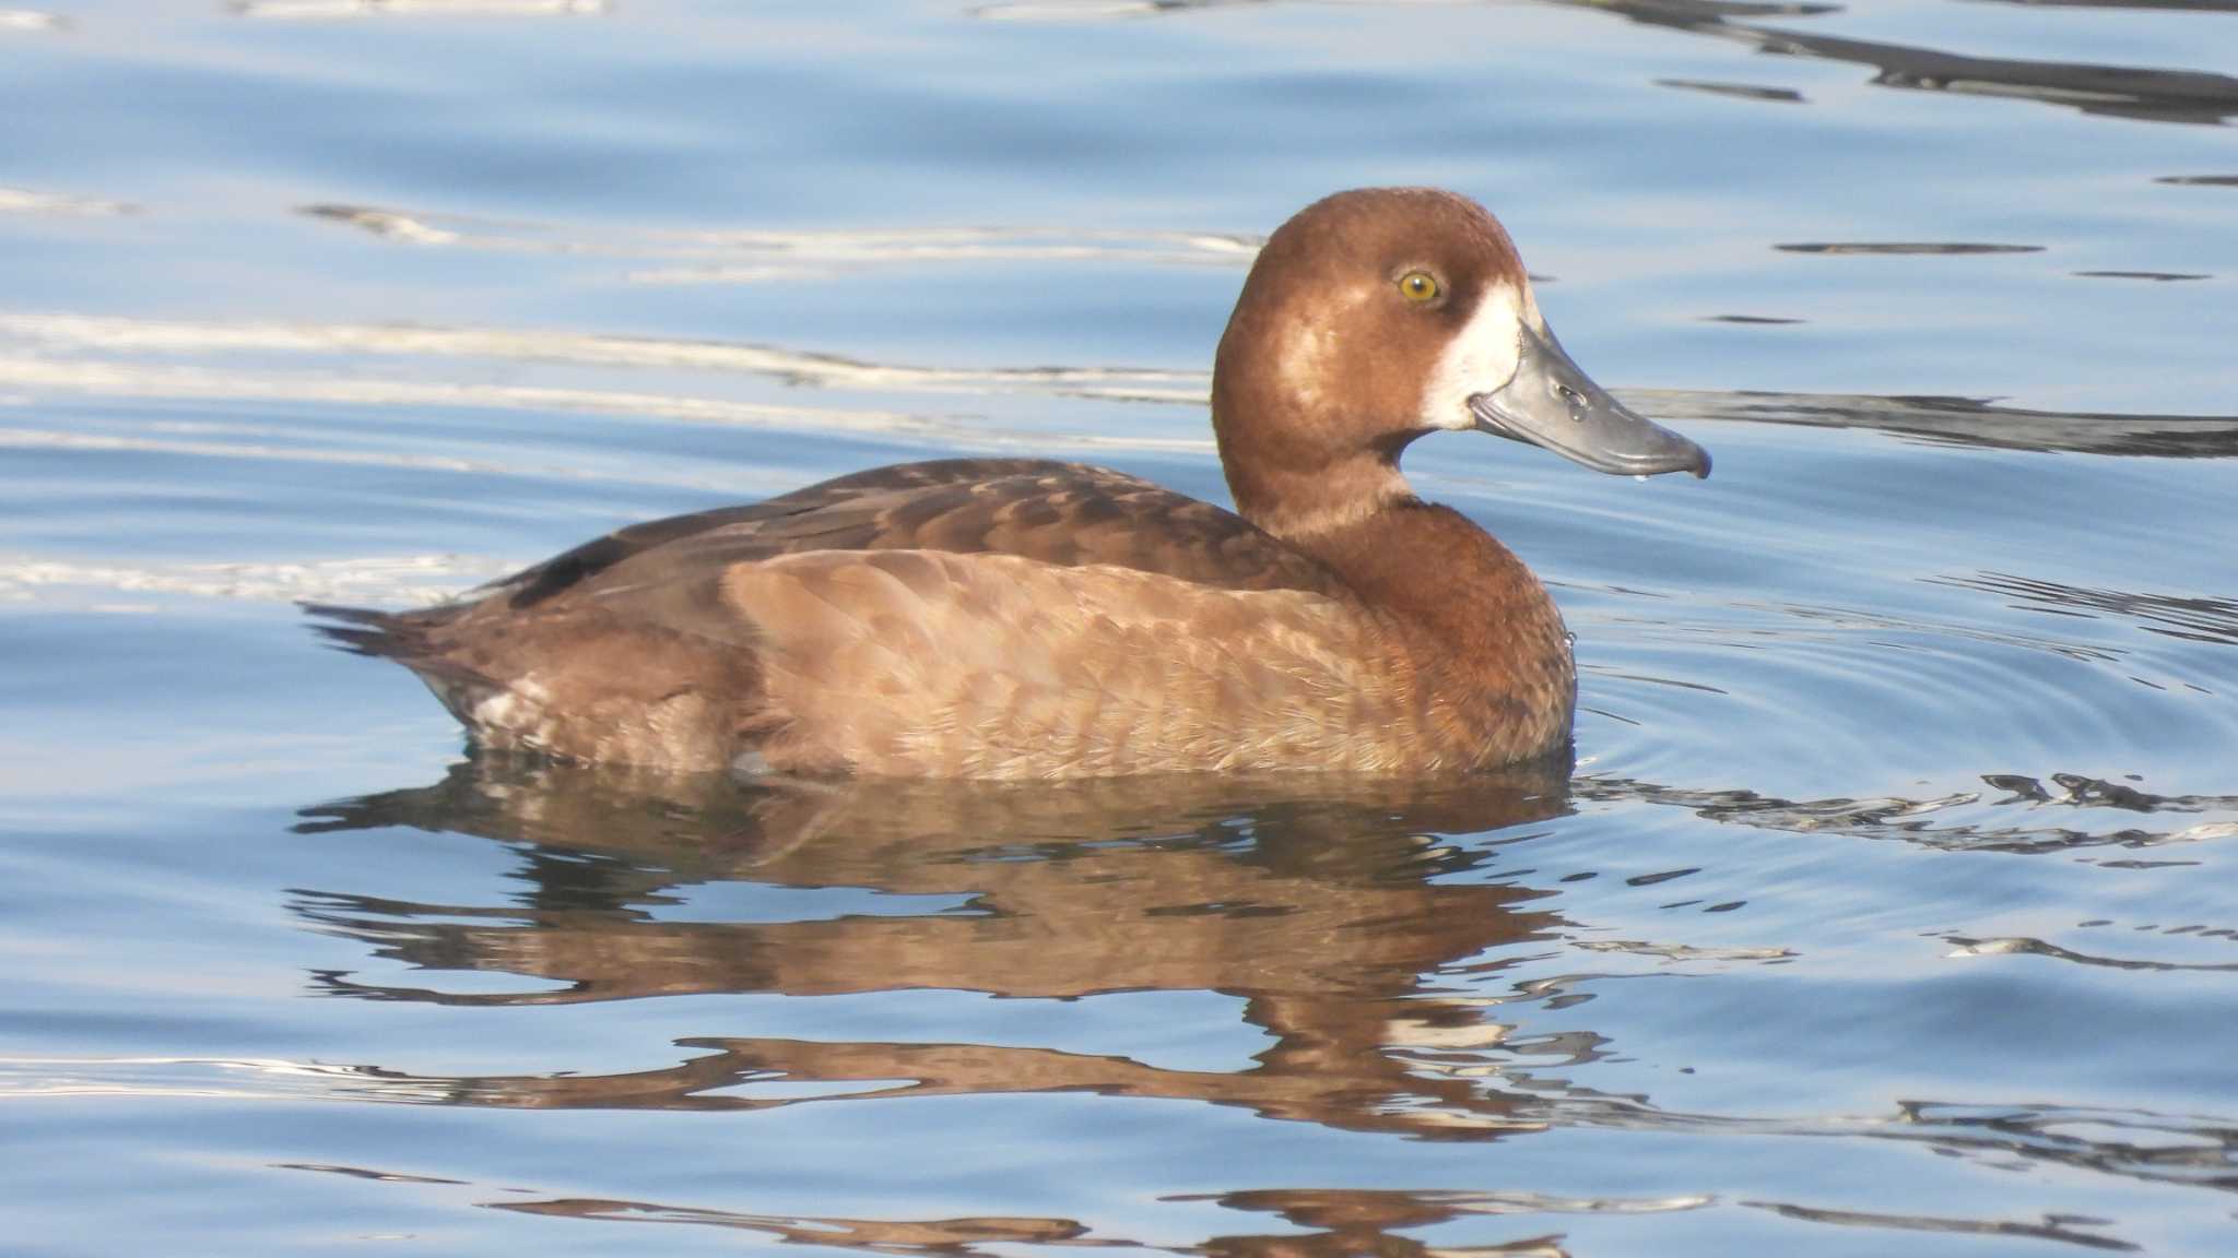
[[(295, 911), (419, 969), (539, 980), (441, 992), (325, 974), (338, 996), (535, 1005), (676, 994), (1220, 992), (1273, 1048), (1240, 1072), (978, 1043), (689, 1039), (638, 1074), (445, 1081), (461, 1104), (763, 1108), (828, 1095), (1092, 1090), (1417, 1135), (1544, 1126), (1486, 1088), (1506, 1027), (1475, 983), (1546, 940), (1540, 893), (1479, 877), (1567, 808), (1567, 763), (1432, 783), (1119, 779), (739, 786), (477, 757), (430, 788), (309, 810), (302, 830), (414, 826), (519, 844), (517, 904), (333, 891)], [(1441, 835), (1477, 835), (1468, 844)], [(1513, 835), (1524, 837), (1524, 835)], [(871, 889), (922, 911), (665, 920), (689, 886)], [(754, 913), (761, 918), (763, 913)], [(1452, 989), (1441, 976), (1455, 978)], [(1464, 978), (1466, 976), (1466, 978)], [(1538, 996), (1544, 996), (1540, 992)], [(1589, 1061), (1593, 1036), (1555, 1050)], [(1531, 1048), (1535, 1059), (1546, 1045)], [(781, 1097), (754, 1095), (783, 1081)], [(862, 1088), (868, 1086), (868, 1088)], [(768, 1092), (765, 1088), (761, 1092)], [(1571, 1092), (1562, 1092), (1571, 1095)], [(1553, 1099), (1533, 1092), (1533, 1113)]]

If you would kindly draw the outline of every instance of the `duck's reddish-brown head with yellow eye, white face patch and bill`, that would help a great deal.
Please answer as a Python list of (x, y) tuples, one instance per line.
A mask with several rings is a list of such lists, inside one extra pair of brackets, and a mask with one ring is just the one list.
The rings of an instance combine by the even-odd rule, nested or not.
[(1403, 497), (1399, 452), (1439, 430), (1710, 475), (1571, 363), (1499, 219), (1432, 188), (1338, 193), (1267, 240), (1220, 338), (1213, 430), (1238, 510), (1273, 533)]

